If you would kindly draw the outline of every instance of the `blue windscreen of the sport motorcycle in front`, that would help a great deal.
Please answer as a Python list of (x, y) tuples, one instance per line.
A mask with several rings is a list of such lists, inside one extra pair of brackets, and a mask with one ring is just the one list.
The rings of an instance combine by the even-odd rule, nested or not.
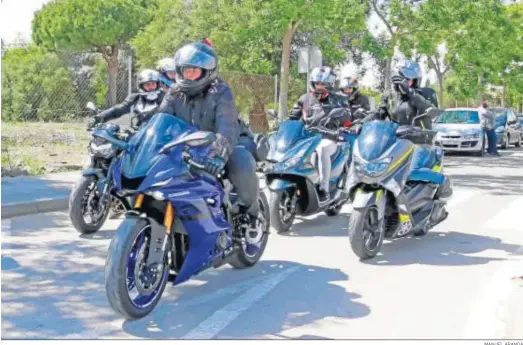
[(189, 126), (184, 121), (173, 115), (165, 113), (154, 115), (149, 123), (129, 141), (134, 150), (131, 154), (124, 155), (122, 173), (127, 178), (145, 176), (160, 159), (160, 149), (188, 129)]

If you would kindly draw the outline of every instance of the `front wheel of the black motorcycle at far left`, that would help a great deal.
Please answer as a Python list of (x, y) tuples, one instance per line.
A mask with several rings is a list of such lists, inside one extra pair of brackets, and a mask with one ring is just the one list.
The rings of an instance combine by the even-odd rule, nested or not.
[(97, 184), (96, 176), (82, 176), (69, 197), (69, 218), (81, 234), (100, 230), (109, 214), (111, 198), (106, 198), (106, 205), (99, 205), (102, 191), (98, 190)]

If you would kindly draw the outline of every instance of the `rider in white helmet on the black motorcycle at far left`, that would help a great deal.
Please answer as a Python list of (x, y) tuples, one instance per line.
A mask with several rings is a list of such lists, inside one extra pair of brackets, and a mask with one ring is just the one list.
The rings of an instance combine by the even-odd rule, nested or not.
[(134, 112), (138, 114), (135, 125), (139, 127), (156, 114), (165, 95), (160, 88), (160, 74), (155, 70), (146, 69), (139, 72), (136, 79), (137, 93), (130, 94), (122, 103), (90, 118), (88, 126), (93, 127), (97, 123), (114, 120)]

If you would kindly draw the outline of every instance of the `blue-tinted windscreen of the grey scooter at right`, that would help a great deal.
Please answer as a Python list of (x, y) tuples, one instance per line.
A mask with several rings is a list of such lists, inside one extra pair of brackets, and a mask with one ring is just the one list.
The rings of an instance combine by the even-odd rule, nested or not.
[(361, 158), (372, 161), (381, 156), (394, 142), (398, 124), (392, 121), (370, 121), (363, 124), (358, 142)]

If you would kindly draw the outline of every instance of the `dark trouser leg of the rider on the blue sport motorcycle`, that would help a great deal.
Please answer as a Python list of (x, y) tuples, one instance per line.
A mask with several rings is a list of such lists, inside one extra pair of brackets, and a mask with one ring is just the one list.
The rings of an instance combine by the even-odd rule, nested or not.
[(234, 147), (225, 166), (227, 178), (234, 186), (238, 197), (252, 215), (258, 215), (258, 193), (260, 182), (256, 175), (256, 161), (252, 154), (241, 146)]

